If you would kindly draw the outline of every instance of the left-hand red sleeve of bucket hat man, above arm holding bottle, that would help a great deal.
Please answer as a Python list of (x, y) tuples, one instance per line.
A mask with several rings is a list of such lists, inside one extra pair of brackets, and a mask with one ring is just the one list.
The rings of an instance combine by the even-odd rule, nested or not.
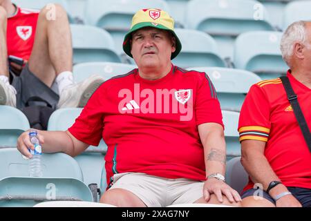
[(88, 100), (82, 113), (75, 119), (75, 124), (68, 128), (77, 140), (93, 146), (100, 144), (104, 128), (105, 91), (103, 84)]

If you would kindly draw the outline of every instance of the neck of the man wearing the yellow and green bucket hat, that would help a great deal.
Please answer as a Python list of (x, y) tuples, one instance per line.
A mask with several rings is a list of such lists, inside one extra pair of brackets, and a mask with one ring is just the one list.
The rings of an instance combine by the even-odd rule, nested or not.
[(138, 73), (143, 79), (150, 81), (167, 76), (171, 71), (171, 62), (164, 68), (138, 68)]

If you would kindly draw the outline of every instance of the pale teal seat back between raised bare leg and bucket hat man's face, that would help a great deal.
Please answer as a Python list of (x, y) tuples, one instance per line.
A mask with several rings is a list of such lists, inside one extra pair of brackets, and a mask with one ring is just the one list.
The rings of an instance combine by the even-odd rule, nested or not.
[(70, 25), (73, 37), (73, 63), (90, 61), (121, 62), (108, 32), (93, 26)]

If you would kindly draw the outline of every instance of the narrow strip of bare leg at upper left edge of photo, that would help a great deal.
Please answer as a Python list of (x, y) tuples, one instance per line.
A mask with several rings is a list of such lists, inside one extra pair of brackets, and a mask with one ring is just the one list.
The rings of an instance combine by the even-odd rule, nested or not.
[(8, 74), (8, 49), (6, 47), (6, 27), (8, 17), (6, 10), (0, 6), (0, 75), (9, 77)]

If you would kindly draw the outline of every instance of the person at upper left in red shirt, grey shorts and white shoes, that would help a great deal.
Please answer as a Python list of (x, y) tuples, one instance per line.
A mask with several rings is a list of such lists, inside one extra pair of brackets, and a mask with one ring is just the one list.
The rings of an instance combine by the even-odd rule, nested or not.
[(41, 97), (58, 108), (84, 106), (104, 81), (96, 76), (74, 84), (70, 26), (62, 6), (37, 11), (0, 0), (0, 45), (0, 105), (23, 108), (30, 97)]

